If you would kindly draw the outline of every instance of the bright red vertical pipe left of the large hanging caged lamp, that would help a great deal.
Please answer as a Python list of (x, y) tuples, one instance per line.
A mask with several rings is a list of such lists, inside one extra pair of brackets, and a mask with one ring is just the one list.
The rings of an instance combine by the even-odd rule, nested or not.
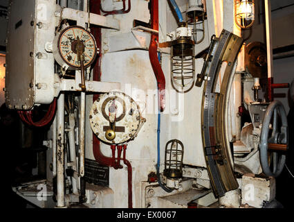
[[(158, 31), (158, 0), (151, 1), (151, 28)], [(163, 69), (161, 69), (160, 62), (158, 60), (158, 33), (151, 34), (151, 41), (149, 46), (149, 58), (152, 69), (154, 71), (157, 87), (160, 94), (160, 111), (165, 109), (165, 75)]]

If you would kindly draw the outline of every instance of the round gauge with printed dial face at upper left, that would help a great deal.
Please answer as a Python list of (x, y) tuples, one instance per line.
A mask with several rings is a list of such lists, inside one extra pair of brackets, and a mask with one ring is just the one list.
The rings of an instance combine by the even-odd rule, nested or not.
[(79, 55), (84, 58), (84, 67), (89, 67), (94, 62), (96, 53), (93, 35), (81, 26), (64, 28), (53, 42), (55, 60), (63, 68), (80, 69)]

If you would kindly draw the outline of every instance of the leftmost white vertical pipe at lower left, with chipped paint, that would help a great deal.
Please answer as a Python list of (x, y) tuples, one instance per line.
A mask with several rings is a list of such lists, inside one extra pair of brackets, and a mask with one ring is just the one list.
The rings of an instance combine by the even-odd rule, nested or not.
[(57, 205), (65, 207), (64, 201), (64, 94), (57, 101)]

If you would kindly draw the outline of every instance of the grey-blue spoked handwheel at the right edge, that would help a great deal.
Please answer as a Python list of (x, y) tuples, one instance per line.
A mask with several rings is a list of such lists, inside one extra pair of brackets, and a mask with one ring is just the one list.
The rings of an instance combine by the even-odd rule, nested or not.
[[(270, 128), (270, 124), (272, 128)], [(271, 133), (270, 130), (272, 130)], [(280, 101), (273, 101), (268, 105), (264, 115), (259, 144), (261, 168), (266, 176), (276, 178), (282, 173), (286, 162), (287, 149), (288, 122), (286, 111)], [(272, 165), (272, 169), (270, 165)]]

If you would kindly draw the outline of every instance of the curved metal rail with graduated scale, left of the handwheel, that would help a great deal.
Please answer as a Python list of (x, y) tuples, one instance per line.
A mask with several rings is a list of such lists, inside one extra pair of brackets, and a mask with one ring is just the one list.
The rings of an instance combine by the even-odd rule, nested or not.
[[(223, 30), (212, 50), (212, 62), (204, 85), (202, 100), (202, 138), (208, 174), (214, 196), (224, 196), (239, 187), (232, 167), (232, 153), (226, 137), (226, 111), (234, 73), (232, 72), (244, 40)], [(220, 92), (215, 92), (222, 62), (227, 62)]]

